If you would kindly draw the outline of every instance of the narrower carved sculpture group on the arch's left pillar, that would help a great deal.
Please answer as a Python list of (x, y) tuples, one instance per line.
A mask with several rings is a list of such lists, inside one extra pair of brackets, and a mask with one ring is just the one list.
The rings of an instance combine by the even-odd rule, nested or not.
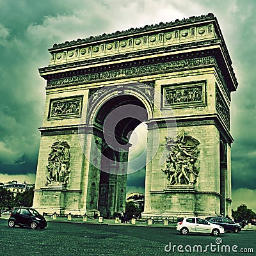
[(56, 141), (49, 146), (46, 184), (68, 184), (70, 175), (70, 146), (67, 141)]

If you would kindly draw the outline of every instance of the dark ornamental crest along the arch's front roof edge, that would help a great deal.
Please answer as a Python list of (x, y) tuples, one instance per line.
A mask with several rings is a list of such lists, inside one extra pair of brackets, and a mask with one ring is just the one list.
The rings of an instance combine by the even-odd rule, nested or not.
[(81, 44), (86, 44), (86, 43), (91, 43), (91, 42), (97, 42), (101, 40), (107, 40), (111, 38), (115, 38), (117, 36), (127, 36), (127, 35), (132, 35), (134, 33), (143, 33), (143, 32), (148, 32), (152, 31), (155, 29), (162, 29), (162, 28), (170, 28), (173, 26), (179, 26), (179, 25), (185, 25), (185, 24), (190, 24), (190, 23), (195, 23), (195, 22), (200, 22), (204, 20), (212, 20), (214, 19), (214, 15), (212, 13), (208, 13), (207, 15), (201, 15), (201, 16), (192, 16), (189, 17), (188, 19), (176, 19), (175, 21), (171, 22), (160, 22), (159, 24), (152, 24), (152, 25), (146, 25), (141, 28), (130, 28), (125, 31), (116, 31), (115, 33), (109, 33), (109, 34), (102, 34), (99, 36), (90, 36), (89, 38), (84, 38), (84, 39), (77, 39), (77, 40), (72, 40), (70, 42), (66, 41), (65, 43), (62, 44), (54, 44), (49, 51), (52, 51), (54, 49), (61, 49), (63, 47), (70, 47), (74, 45), (81, 45)]

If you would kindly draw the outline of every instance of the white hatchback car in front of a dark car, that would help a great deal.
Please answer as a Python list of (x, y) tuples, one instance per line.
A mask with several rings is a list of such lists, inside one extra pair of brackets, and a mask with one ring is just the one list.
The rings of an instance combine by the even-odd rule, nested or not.
[(198, 217), (180, 218), (176, 228), (182, 235), (186, 235), (189, 232), (198, 232), (219, 236), (225, 233), (223, 227)]

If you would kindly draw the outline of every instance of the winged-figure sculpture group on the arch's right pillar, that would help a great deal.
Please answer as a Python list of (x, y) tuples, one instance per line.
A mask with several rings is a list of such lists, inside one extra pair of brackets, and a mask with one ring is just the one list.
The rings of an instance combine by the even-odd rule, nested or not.
[(166, 138), (168, 155), (166, 168), (162, 171), (166, 174), (169, 185), (193, 185), (198, 177), (198, 145), (200, 142), (185, 134), (182, 129), (177, 138)]

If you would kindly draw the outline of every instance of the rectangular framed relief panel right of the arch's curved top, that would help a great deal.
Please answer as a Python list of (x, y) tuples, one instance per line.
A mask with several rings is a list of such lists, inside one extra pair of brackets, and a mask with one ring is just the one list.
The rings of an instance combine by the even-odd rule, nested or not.
[(190, 84), (167, 84), (163, 86), (163, 108), (201, 106), (205, 100), (206, 82)]

